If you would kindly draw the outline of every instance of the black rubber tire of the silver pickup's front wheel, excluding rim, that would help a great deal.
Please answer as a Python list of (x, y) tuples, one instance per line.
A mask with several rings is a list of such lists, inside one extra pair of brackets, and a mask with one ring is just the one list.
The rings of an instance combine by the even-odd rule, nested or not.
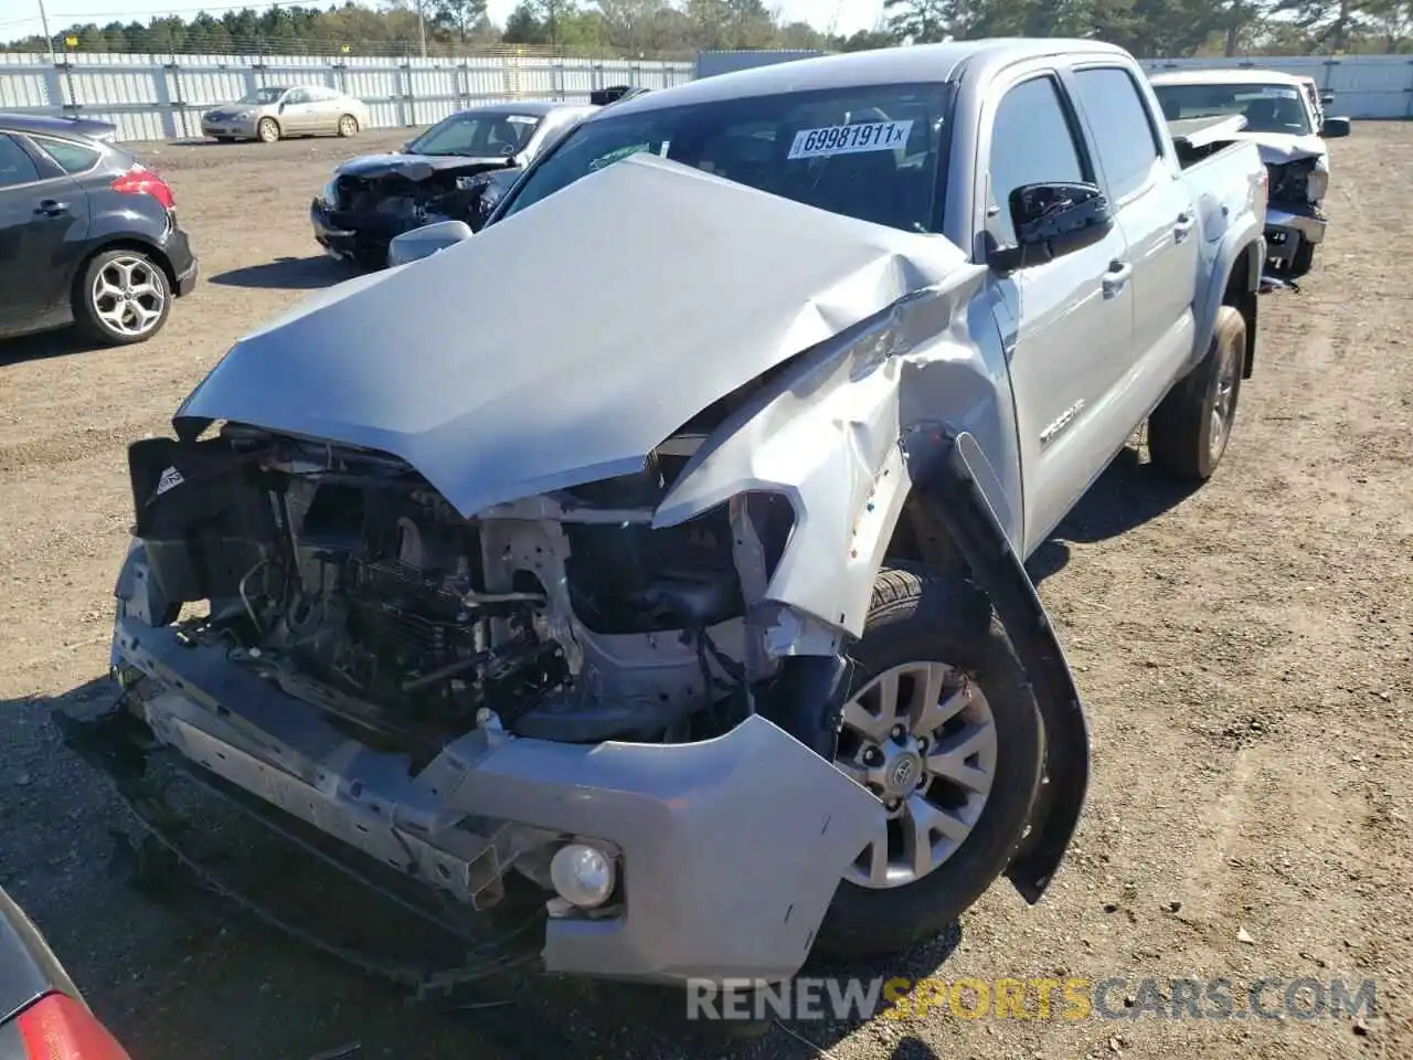
[[(981, 739), (982, 726), (966, 717), (976, 702), (989, 712), (993, 739), (989, 750), (965, 759), (969, 763), (975, 758), (981, 770), (991, 766), (989, 790), (972, 815), (971, 831), (945, 849), (934, 868), (910, 881), (863, 883), (856, 873), (868, 872), (866, 862), (876, 844), (851, 866), (824, 917), (815, 947), (820, 955), (835, 958), (877, 957), (903, 950), (935, 936), (981, 897), (1005, 871), (1026, 834), (1044, 759), (1034, 693), (989, 601), (971, 582), (917, 568), (882, 571), (863, 636), (851, 654), (856, 663), (855, 677), (835, 755), (845, 772), (858, 777), (852, 763), (859, 760), (861, 752), (851, 721), (858, 718), (855, 704), (861, 700), (856, 697), (865, 693), (862, 702), (868, 702), (872, 697), (868, 690), (897, 667), (940, 663), (951, 669), (955, 684), (944, 685), (938, 700), (955, 704), (958, 694), (965, 697), (968, 707), (952, 719), (962, 721), (965, 728), (955, 734), (941, 729), (937, 743), (966, 741), (971, 745)], [(913, 693), (920, 694), (927, 687), (907, 680)], [(954, 687), (969, 690), (969, 694), (957, 693)], [(901, 678), (899, 688), (901, 697)], [(918, 702), (928, 698), (920, 695)], [(894, 760), (890, 759), (883, 772), (896, 776)], [(934, 776), (924, 787), (917, 787), (913, 797), (933, 800), (955, 796), (959, 790), (947, 777)], [(958, 815), (971, 814), (962, 807)], [(906, 825), (907, 818), (900, 821)], [(887, 825), (889, 831), (897, 827), (899, 821)]]

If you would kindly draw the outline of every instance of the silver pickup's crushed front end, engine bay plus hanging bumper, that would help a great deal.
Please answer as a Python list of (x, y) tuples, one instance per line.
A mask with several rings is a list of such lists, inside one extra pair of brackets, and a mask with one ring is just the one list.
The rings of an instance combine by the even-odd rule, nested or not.
[(473, 519), (367, 449), (134, 444), (93, 760), (175, 753), (462, 909), (528, 886), (547, 971), (788, 978), (879, 803), (771, 721), (836, 661), (747, 606), (790, 505), (653, 527), (692, 444)]

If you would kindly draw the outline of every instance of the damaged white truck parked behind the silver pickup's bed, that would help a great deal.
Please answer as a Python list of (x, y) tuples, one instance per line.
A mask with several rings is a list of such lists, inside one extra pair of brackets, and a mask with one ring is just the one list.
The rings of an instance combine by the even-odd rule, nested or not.
[(1269, 174), (1269, 271), (1283, 280), (1306, 276), (1328, 225), (1325, 140), (1349, 136), (1349, 119), (1325, 116), (1310, 78), (1273, 69), (1169, 71), (1153, 75), (1153, 89), (1169, 120), (1243, 119), (1232, 139), (1256, 144)]

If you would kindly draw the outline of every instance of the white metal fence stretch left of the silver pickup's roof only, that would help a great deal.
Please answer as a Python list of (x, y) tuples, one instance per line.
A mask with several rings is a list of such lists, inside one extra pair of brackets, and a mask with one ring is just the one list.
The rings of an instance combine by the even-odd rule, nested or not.
[(668, 88), (692, 64), (545, 57), (389, 59), (366, 57), (0, 54), (0, 110), (112, 122), (122, 140), (201, 136), (201, 112), (263, 85), (325, 85), (363, 99), (374, 127), (424, 126), (493, 99), (588, 102), (612, 85)]

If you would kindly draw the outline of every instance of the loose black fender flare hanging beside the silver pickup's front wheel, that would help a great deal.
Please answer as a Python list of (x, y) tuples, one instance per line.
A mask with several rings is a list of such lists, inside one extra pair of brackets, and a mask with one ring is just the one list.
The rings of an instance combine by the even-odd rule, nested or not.
[(982, 488), (989, 468), (965, 431), (918, 430), (904, 440), (917, 503), (928, 507), (991, 598), (1031, 681), (1046, 743), (1046, 782), (1031, 807), (1030, 834), (1006, 869), (1020, 896), (1044, 895), (1074, 838), (1089, 784), (1089, 722), (1054, 626)]

